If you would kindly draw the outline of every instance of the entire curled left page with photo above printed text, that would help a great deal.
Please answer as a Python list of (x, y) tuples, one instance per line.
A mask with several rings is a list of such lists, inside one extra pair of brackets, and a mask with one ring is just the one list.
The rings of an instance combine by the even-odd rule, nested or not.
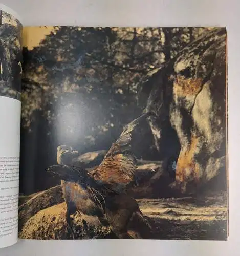
[(17, 242), (22, 25), (0, 10), (0, 247)]

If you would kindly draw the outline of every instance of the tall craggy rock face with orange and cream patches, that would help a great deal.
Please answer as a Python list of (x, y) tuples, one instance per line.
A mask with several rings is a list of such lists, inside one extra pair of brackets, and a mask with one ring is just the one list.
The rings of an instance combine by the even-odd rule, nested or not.
[(175, 185), (192, 192), (218, 177), (226, 189), (226, 30), (203, 34), (147, 84), (156, 146), (165, 163), (178, 159)]

